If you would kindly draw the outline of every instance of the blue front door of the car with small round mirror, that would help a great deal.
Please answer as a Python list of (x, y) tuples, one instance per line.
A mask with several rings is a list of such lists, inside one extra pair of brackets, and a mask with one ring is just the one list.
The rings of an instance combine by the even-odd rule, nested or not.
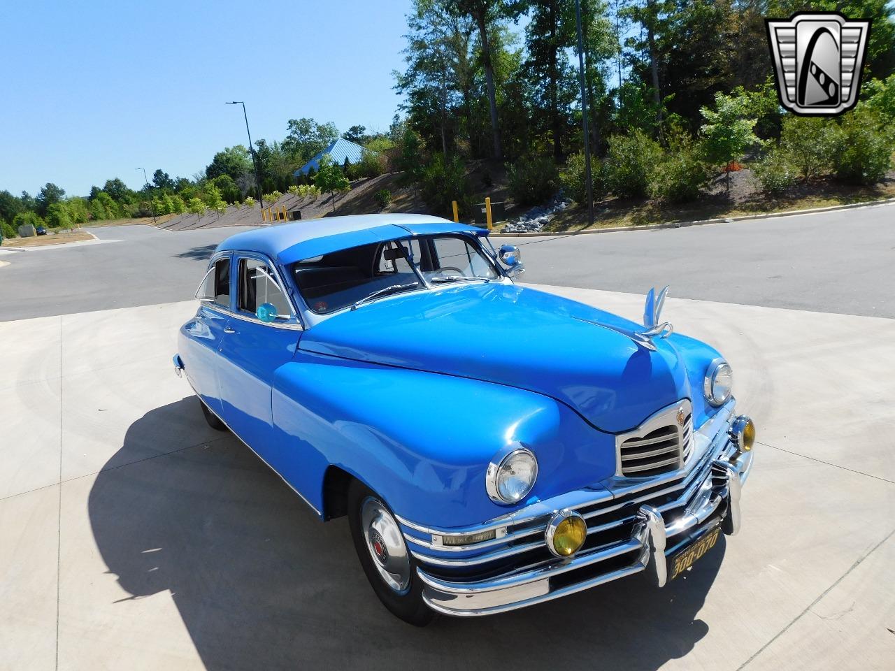
[[(234, 308), (218, 352), (221, 418), (270, 463), (274, 372), (292, 360), (302, 326), (268, 259), (236, 252), (233, 269)], [(271, 319), (270, 305), (276, 317), (262, 321)]]

